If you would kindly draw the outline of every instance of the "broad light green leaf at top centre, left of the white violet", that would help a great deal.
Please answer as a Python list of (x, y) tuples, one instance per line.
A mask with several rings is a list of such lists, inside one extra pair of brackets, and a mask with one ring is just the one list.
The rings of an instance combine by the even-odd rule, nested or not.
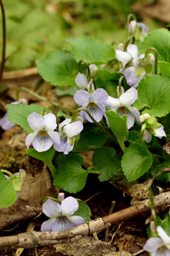
[(77, 62), (84, 59), (88, 63), (102, 64), (115, 57), (115, 49), (110, 44), (95, 40), (90, 36), (65, 39), (72, 46), (72, 53)]

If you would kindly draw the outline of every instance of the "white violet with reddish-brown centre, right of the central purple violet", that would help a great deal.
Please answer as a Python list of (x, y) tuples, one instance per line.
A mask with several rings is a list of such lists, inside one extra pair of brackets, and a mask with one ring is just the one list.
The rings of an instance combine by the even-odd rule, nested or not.
[(106, 107), (109, 107), (111, 110), (116, 112), (122, 117), (123, 115), (127, 115), (127, 127), (128, 129), (133, 126), (134, 120), (141, 123), (139, 120), (140, 113), (135, 107), (131, 107), (131, 105), (137, 100), (138, 91), (137, 89), (130, 88), (125, 93), (122, 93), (119, 98), (108, 97), (108, 100), (104, 103)]

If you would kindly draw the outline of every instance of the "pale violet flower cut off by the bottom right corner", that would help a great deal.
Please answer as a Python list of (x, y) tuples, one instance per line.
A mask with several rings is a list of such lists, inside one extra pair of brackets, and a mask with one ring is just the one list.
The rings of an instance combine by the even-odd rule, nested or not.
[(157, 226), (159, 237), (150, 237), (143, 249), (151, 252), (152, 256), (169, 256), (170, 255), (170, 237), (166, 234), (161, 226)]

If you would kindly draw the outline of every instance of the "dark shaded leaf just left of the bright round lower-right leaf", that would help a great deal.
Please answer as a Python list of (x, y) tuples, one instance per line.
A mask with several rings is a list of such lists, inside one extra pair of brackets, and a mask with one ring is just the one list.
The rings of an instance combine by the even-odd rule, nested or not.
[(116, 155), (112, 147), (101, 147), (93, 154), (93, 165), (95, 170), (100, 170), (98, 176), (100, 181), (109, 180), (113, 175), (121, 171), (122, 154)]

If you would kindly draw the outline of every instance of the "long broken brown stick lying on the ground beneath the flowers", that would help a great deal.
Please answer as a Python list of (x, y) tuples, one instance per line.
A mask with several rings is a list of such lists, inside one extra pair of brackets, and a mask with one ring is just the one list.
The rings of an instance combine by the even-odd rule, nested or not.
[[(155, 206), (170, 204), (170, 192), (161, 193), (153, 197)], [(50, 244), (73, 243), (79, 239), (105, 228), (121, 223), (140, 214), (150, 211), (149, 199), (146, 199), (134, 206), (112, 213), (103, 218), (92, 220), (87, 224), (77, 226), (72, 229), (55, 232), (26, 232), (8, 237), (0, 237), (0, 250), (6, 248), (34, 248)]]

